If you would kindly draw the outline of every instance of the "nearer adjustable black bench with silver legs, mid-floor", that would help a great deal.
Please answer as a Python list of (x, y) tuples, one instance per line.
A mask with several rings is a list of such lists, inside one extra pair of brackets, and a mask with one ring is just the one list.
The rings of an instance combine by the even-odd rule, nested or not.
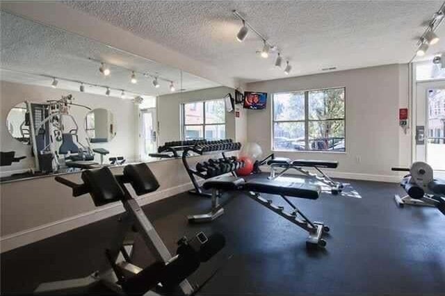
[[(266, 206), (274, 213), (277, 213), (286, 220), (289, 220), (298, 227), (305, 229), (309, 233), (306, 245), (307, 247), (325, 247), (326, 241), (323, 240), (323, 233), (328, 232), (329, 227), (325, 226), (323, 222), (312, 222), (305, 216), (289, 199), (288, 197), (299, 197), (305, 199), (318, 199), (321, 188), (317, 185), (308, 183), (296, 182), (282, 182), (272, 180), (252, 180), (245, 181), (242, 178), (233, 176), (221, 176), (219, 178), (207, 181), (202, 186), (204, 189), (212, 190), (211, 197), (211, 211), (203, 215), (190, 215), (188, 220), (190, 222), (211, 222), (220, 215), (223, 215), (224, 208), (219, 204), (219, 198), (223, 192), (239, 191), (244, 192), (248, 197), (255, 202)], [(264, 199), (260, 193), (268, 193), (271, 195), (280, 195), (284, 201), (293, 208), (291, 213), (284, 211), (284, 206), (277, 206), (272, 203), (271, 199)]]

